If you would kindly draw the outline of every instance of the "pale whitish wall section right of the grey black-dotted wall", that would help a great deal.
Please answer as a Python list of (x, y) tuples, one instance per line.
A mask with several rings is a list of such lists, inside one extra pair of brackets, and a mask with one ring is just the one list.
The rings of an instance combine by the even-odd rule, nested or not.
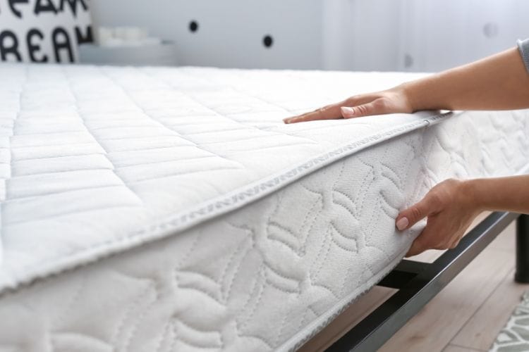
[(529, 37), (527, 0), (336, 0), (324, 10), (324, 67), (437, 71)]

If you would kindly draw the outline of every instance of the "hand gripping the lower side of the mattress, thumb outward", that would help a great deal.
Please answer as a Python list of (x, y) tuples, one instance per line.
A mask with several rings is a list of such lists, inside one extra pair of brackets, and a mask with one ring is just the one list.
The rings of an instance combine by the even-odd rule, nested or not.
[(474, 218), (482, 211), (475, 201), (470, 181), (446, 180), (432, 188), (414, 206), (396, 218), (396, 227), (406, 230), (423, 218), (427, 225), (413, 241), (406, 256), (415, 256), (427, 249), (452, 249)]

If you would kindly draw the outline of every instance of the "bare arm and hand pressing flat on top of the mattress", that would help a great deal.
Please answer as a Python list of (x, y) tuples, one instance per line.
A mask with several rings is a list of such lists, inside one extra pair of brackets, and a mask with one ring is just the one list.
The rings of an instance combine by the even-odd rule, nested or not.
[(529, 108), (529, 75), (518, 49), (406, 82), (382, 92), (351, 96), (286, 123), (359, 118), (420, 110), (511, 110)]

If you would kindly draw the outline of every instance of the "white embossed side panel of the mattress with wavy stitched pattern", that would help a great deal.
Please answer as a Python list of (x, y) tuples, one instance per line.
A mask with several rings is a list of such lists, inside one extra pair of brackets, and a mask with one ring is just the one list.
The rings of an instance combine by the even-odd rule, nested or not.
[[(251, 206), (0, 299), (0, 345), (41, 351), (294, 348), (406, 253), (399, 209), (448, 177), (529, 163), (527, 112), (465, 113)], [(50, 342), (51, 341), (51, 342)]]

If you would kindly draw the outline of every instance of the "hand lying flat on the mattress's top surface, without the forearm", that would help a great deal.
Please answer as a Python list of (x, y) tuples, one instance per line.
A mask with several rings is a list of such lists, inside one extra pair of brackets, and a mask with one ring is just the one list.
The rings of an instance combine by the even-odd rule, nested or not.
[(413, 108), (402, 84), (382, 92), (351, 96), (344, 101), (324, 106), (310, 113), (284, 119), (285, 123), (338, 118), (361, 118), (387, 113), (413, 113)]

